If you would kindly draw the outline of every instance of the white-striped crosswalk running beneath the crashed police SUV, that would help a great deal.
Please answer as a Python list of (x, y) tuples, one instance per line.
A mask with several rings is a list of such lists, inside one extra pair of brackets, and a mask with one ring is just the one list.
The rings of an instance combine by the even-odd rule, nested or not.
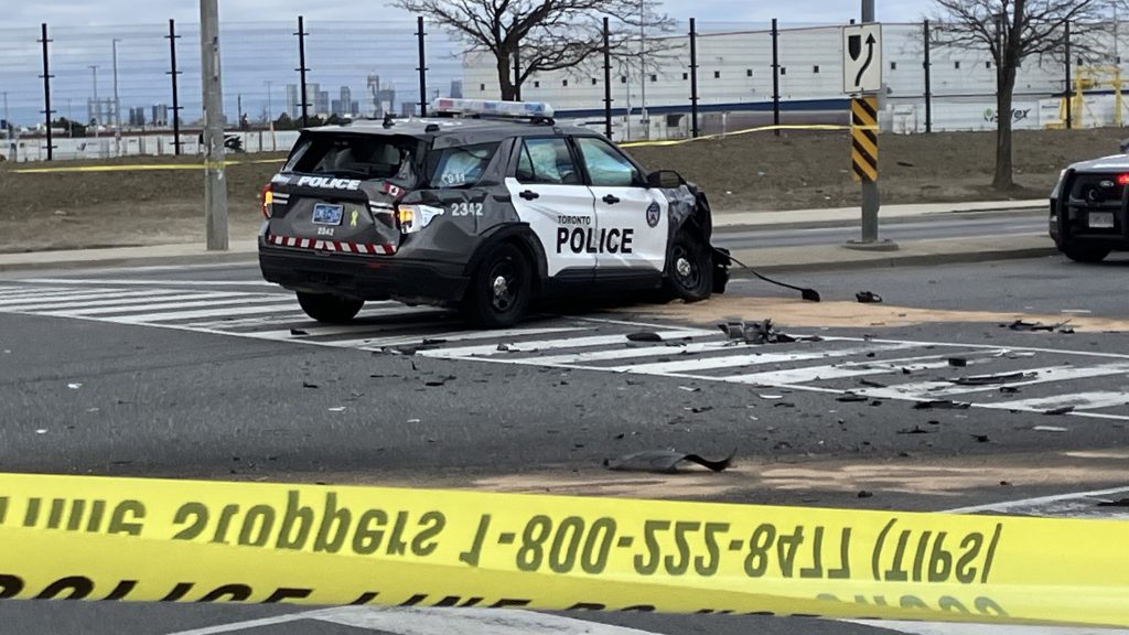
[[(454, 312), (368, 303), (341, 325), (309, 320), (292, 295), (247, 285), (0, 287), (0, 313), (68, 318), (489, 362), (723, 382), (907, 402), (953, 400), (1021, 412), (1129, 420), (1129, 355), (984, 343), (837, 337), (753, 345), (720, 330), (598, 316), (544, 316), (513, 329), (470, 329)], [(152, 282), (152, 284), (150, 284)], [(217, 288), (224, 287), (224, 288)], [(642, 338), (631, 333), (647, 331)], [(803, 333), (795, 333), (803, 334)], [(410, 350), (408, 350), (410, 349)], [(1093, 382), (1102, 382), (1095, 385)]]

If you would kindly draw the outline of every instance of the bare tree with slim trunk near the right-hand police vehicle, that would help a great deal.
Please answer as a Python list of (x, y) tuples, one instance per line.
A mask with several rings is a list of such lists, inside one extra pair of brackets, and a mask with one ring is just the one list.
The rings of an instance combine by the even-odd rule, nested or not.
[[(1106, 0), (934, 0), (942, 44), (987, 49), (996, 66), (996, 176), (992, 188), (1008, 190), (1012, 179), (1012, 97), (1023, 60), (1065, 61), (1066, 27), (1077, 31), (1105, 17)], [(1068, 87), (1069, 88), (1069, 87)]]

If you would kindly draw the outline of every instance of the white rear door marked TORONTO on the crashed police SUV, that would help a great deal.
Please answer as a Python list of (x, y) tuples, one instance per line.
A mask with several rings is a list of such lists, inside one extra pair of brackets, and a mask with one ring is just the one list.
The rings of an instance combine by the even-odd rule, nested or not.
[(563, 137), (517, 140), (514, 175), (506, 188), (518, 217), (541, 240), (549, 276), (592, 279), (598, 236), (595, 199)]

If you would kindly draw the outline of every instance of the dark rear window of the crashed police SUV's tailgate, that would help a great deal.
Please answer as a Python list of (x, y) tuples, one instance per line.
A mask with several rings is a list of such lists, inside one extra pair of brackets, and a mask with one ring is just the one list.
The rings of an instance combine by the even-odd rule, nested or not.
[(411, 165), (412, 137), (309, 134), (298, 142), (285, 172), (349, 179), (391, 179)]

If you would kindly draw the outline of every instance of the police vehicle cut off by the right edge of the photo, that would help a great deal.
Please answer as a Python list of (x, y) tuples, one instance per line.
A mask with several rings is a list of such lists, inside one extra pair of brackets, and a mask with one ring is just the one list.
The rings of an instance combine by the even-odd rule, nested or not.
[[(1122, 153), (1127, 149), (1122, 147)], [(1050, 236), (1078, 262), (1129, 251), (1129, 155), (1068, 166), (1051, 192)]]

